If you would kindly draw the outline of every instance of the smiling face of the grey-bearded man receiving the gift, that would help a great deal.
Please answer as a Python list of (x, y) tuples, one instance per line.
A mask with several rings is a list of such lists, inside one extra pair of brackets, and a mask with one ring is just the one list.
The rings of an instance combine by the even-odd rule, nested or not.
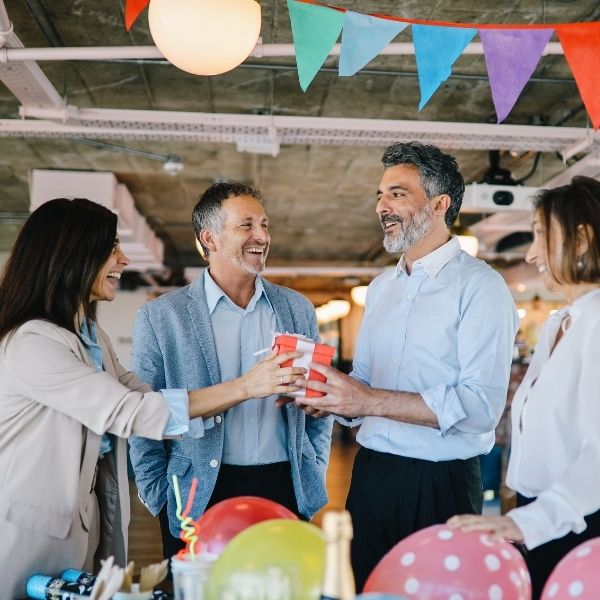
[(433, 227), (433, 208), (411, 165), (396, 165), (383, 172), (377, 190), (377, 214), (388, 252), (406, 252)]

